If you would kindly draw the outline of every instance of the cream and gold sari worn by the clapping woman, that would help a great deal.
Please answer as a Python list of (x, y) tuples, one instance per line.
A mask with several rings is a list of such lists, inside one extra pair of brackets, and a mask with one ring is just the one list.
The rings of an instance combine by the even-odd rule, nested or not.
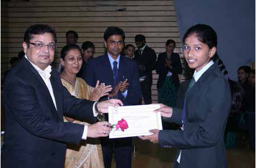
[[(71, 95), (77, 98), (89, 99), (92, 87), (87, 85), (82, 78), (76, 78), (75, 87), (68, 81), (61, 78), (62, 85), (65, 86)], [(68, 122), (64, 117), (64, 121)], [(83, 125), (90, 125), (84, 121), (75, 120), (73, 123)], [(65, 168), (92, 168), (104, 167), (102, 149), (100, 139), (87, 138), (86, 141), (82, 140), (80, 145), (67, 144)]]

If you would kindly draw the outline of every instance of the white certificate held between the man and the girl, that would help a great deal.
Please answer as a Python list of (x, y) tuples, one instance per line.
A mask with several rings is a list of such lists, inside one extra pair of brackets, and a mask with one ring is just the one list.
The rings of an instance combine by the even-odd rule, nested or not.
[(158, 104), (109, 107), (109, 122), (114, 125), (120, 120), (126, 120), (128, 128), (122, 131), (114, 127), (109, 134), (110, 139), (131, 136), (151, 135), (149, 130), (163, 130)]

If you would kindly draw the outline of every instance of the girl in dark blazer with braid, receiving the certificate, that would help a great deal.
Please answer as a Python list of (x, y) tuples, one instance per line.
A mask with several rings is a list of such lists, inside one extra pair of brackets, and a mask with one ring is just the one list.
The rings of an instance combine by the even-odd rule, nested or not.
[(179, 148), (174, 167), (227, 167), (223, 136), (232, 98), (228, 80), (219, 70), (216, 33), (208, 25), (196, 24), (183, 42), (185, 60), (195, 69), (183, 110), (163, 104), (155, 110), (182, 125), (181, 130), (151, 130), (152, 135), (140, 138)]

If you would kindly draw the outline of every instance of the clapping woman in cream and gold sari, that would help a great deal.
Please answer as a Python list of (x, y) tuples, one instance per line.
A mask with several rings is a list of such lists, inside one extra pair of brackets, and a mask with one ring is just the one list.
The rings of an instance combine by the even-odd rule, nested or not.
[[(62, 48), (61, 65), (63, 67), (60, 74), (62, 85), (75, 97), (98, 101), (100, 97), (112, 90), (111, 86), (105, 86), (104, 83), (99, 85), (99, 81), (93, 88), (82, 78), (76, 77), (82, 66), (82, 54), (77, 45), (67, 45)], [(90, 125), (85, 121), (69, 117), (64, 117), (64, 121)], [(65, 168), (71, 167), (104, 167), (100, 139), (87, 139), (80, 145), (67, 144)]]

